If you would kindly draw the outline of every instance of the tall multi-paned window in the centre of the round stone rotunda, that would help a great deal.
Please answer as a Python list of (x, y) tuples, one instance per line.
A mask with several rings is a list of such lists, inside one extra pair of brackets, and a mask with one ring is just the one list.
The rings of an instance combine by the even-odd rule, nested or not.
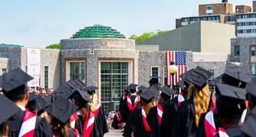
[[(100, 88), (103, 108), (110, 111), (111, 104), (118, 104), (129, 82), (128, 62), (101, 62)], [(118, 108), (118, 106), (116, 105)]]

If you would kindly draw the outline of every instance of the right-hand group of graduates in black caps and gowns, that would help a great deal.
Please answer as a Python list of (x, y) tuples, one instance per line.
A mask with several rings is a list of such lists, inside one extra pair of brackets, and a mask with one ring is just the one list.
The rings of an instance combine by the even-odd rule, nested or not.
[(256, 136), (256, 78), (231, 62), (208, 81), (212, 75), (197, 66), (179, 76), (180, 91), (160, 85), (159, 78), (151, 78), (149, 88), (130, 84), (113, 127), (124, 127), (128, 137)]

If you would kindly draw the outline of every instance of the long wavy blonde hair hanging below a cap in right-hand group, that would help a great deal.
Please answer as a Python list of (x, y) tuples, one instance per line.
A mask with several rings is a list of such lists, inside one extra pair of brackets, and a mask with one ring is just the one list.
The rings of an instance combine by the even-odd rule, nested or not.
[(204, 88), (195, 88), (194, 92), (192, 86), (189, 87), (189, 99), (193, 100), (195, 108), (195, 126), (199, 126), (199, 119), (202, 113), (205, 113), (208, 110), (209, 104), (209, 86), (205, 85)]

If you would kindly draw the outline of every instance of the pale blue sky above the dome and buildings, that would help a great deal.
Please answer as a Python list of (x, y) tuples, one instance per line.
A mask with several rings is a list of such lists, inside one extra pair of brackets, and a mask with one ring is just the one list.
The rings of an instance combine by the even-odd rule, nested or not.
[[(44, 47), (80, 28), (113, 27), (126, 37), (172, 30), (176, 18), (198, 14), (199, 4), (221, 0), (0, 0), (0, 43)], [(252, 5), (252, 0), (229, 0)]]

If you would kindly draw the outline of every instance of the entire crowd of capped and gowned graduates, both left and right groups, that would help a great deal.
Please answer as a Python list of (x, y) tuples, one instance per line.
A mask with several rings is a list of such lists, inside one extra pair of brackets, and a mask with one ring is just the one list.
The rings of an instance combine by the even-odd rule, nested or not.
[[(197, 66), (179, 76), (179, 91), (160, 85), (159, 78), (151, 78), (149, 88), (130, 84), (108, 123), (127, 137), (256, 136), (256, 78), (231, 62), (208, 81), (212, 75)], [(97, 87), (70, 80), (41, 96), (29, 92), (31, 79), (21, 69), (0, 76), (0, 136), (103, 137), (108, 132)]]

